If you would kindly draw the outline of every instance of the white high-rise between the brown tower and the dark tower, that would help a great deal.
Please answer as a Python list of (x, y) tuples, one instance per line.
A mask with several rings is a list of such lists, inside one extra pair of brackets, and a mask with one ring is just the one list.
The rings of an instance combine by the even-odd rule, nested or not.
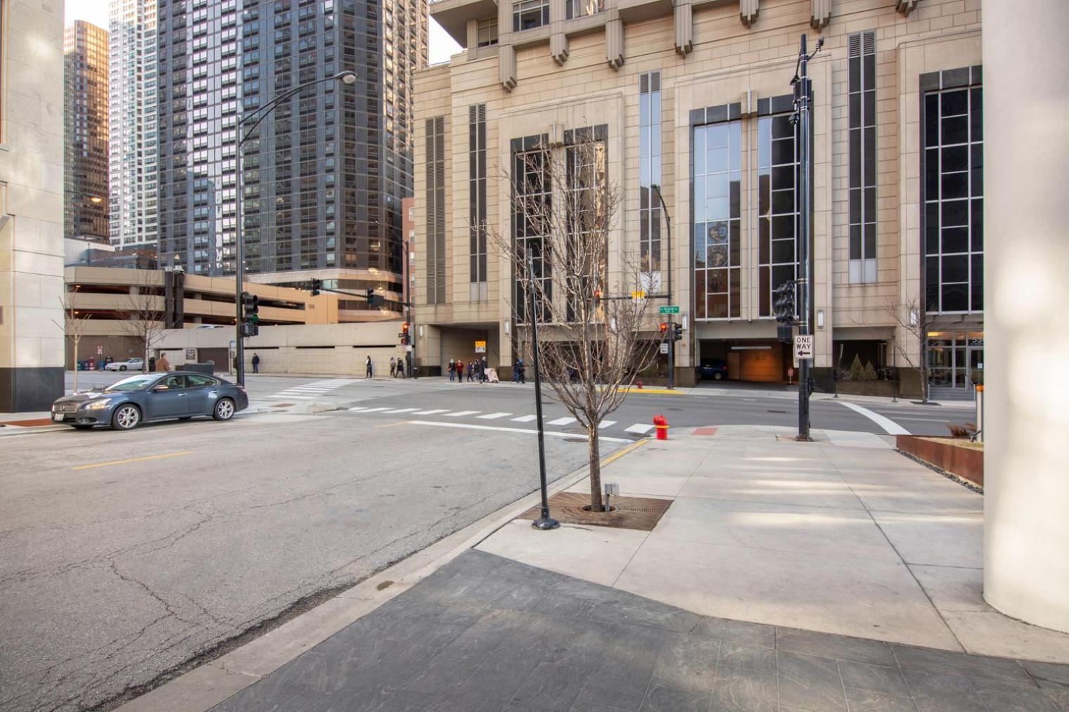
[(155, 245), (156, 0), (111, 0), (108, 32), (112, 245)]

